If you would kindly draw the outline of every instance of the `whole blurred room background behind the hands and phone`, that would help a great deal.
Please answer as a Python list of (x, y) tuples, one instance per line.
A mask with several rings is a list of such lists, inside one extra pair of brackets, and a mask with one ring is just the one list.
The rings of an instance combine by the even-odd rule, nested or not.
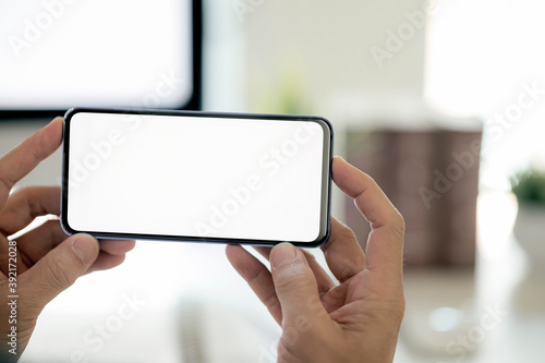
[[(535, 0), (4, 1), (0, 153), (72, 106), (326, 117), (335, 154), (407, 221), (395, 361), (535, 362), (544, 11)], [(21, 184), (59, 184), (60, 172), (57, 153)], [(365, 223), (334, 193), (363, 244)], [(138, 242), (46, 307), (21, 362), (275, 362), (280, 330), (223, 249)]]

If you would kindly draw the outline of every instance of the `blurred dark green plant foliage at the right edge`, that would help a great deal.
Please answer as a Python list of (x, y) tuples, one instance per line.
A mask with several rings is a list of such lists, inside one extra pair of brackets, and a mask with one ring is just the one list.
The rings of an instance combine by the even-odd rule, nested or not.
[(545, 170), (528, 169), (511, 178), (512, 192), (521, 204), (545, 206)]

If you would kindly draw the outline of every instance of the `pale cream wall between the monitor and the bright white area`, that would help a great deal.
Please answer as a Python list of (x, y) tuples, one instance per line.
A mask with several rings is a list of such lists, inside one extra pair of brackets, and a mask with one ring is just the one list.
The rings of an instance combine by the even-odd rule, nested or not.
[[(245, 3), (254, 3), (239, 8), (251, 110), (275, 112), (274, 99), (290, 82), (305, 94), (306, 109), (319, 113), (339, 94), (359, 94), (362, 101), (383, 104), (422, 98), (426, 1)], [(373, 52), (388, 56), (380, 60)]]

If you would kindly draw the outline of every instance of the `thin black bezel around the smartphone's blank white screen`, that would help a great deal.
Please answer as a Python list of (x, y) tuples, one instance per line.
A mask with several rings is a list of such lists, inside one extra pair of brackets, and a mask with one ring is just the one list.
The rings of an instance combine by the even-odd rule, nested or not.
[[(71, 120), (76, 113), (118, 113), (118, 114), (142, 114), (142, 116), (172, 116), (192, 118), (226, 118), (226, 119), (250, 119), (250, 120), (274, 120), (274, 121), (308, 121), (318, 123), (324, 130), (324, 153), (322, 161), (322, 195), (320, 195), (320, 228), (317, 238), (310, 242), (293, 242), (278, 240), (246, 240), (217, 237), (196, 235), (167, 235), (167, 234), (141, 234), (119, 233), (104, 231), (75, 230), (69, 223), (69, 160), (70, 160), (70, 131)], [(332, 160), (334, 132), (331, 123), (316, 116), (291, 116), (272, 113), (238, 113), (238, 112), (205, 112), (205, 111), (178, 111), (156, 109), (125, 109), (125, 108), (72, 108), (64, 116), (63, 146), (62, 146), (62, 192), (61, 192), (61, 216), (60, 221), (64, 231), (69, 234), (88, 233), (100, 239), (119, 240), (154, 240), (154, 241), (185, 241), (202, 243), (223, 244), (249, 244), (249, 245), (275, 245), (281, 242), (292, 242), (294, 245), (304, 247), (316, 247), (323, 245), (329, 239), (330, 233), (330, 194), (331, 194), (331, 160)]]

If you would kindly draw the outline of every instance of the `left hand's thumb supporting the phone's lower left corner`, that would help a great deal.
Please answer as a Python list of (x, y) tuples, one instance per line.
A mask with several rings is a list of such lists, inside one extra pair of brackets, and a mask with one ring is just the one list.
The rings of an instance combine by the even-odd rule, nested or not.
[(41, 310), (84, 275), (97, 259), (98, 253), (98, 241), (94, 237), (69, 237), (24, 274), (24, 290), (29, 294), (24, 301)]

